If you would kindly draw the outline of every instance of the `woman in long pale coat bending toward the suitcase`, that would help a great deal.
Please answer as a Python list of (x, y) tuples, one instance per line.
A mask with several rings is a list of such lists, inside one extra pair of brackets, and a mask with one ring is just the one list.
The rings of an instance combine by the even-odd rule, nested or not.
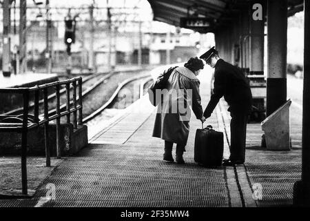
[[(197, 119), (205, 121), (199, 95), (200, 81), (196, 77), (203, 69), (203, 61), (190, 58), (184, 67), (175, 68), (162, 90), (163, 99), (158, 105), (153, 137), (165, 140), (163, 160), (174, 162), (172, 147), (176, 144), (176, 163), (184, 164), (183, 152), (189, 135), (192, 107)], [(157, 96), (157, 95), (156, 95)]]

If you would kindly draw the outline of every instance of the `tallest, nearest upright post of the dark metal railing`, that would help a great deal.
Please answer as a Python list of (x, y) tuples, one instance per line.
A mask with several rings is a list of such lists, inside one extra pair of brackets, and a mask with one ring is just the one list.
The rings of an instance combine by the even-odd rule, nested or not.
[(21, 135), (21, 193), (28, 194), (27, 184), (27, 134), (28, 134), (29, 90), (23, 92), (23, 129)]

